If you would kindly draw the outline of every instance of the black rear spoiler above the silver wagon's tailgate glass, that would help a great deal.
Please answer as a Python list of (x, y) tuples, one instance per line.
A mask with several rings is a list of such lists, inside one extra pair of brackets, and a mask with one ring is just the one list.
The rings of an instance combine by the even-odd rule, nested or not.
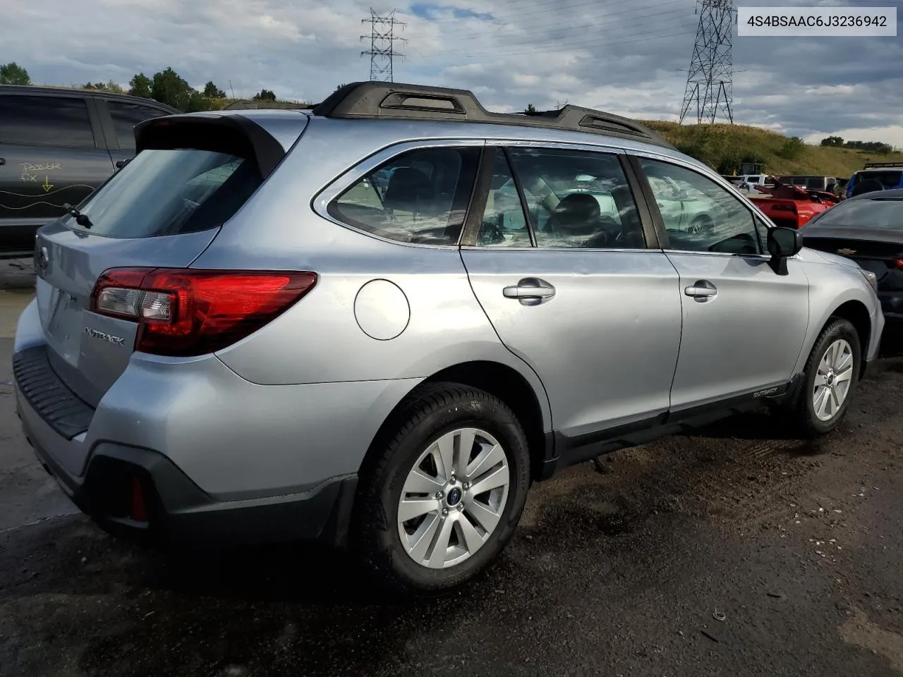
[(135, 125), (135, 154), (171, 148), (197, 148), (253, 160), (264, 179), (285, 157), (282, 144), (245, 116), (163, 116)]

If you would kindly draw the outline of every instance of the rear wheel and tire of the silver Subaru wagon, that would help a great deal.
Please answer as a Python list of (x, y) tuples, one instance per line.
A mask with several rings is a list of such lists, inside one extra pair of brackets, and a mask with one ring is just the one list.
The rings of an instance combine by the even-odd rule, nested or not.
[[(360, 555), (393, 589), (448, 591), (485, 570), (513, 535), (530, 485), (526, 436), (498, 397), (456, 384), (430, 385), (414, 394), (387, 427), (361, 470), (355, 508)], [(457, 456), (446, 463), (450, 440), (454, 454), (470, 434), (470, 464)], [(498, 484), (505, 468), (505, 487), (472, 494), (474, 488)], [(422, 515), (399, 522), (414, 513)], [(448, 545), (443, 549), (439, 543)]]

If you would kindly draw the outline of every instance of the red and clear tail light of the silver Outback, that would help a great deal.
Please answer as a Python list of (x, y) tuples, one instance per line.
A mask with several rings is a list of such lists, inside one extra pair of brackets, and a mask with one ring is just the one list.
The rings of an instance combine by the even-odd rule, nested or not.
[(189, 357), (226, 348), (310, 292), (317, 274), (195, 268), (111, 268), (91, 293), (91, 311), (135, 320), (135, 350)]

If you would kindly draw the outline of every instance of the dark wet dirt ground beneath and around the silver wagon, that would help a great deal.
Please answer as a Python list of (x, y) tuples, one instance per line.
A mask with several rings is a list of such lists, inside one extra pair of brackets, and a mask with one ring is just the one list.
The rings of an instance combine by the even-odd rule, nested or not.
[(488, 574), (372, 589), (311, 547), (174, 556), (38, 468), (0, 292), (0, 677), (903, 674), (903, 340), (815, 444), (766, 413), (537, 485)]

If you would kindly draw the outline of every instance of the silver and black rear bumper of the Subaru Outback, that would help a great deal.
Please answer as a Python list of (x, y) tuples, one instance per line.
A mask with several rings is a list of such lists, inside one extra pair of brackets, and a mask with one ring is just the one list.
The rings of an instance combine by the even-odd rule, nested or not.
[[(193, 543), (341, 543), (361, 462), (420, 381), (257, 385), (216, 357), (135, 354), (95, 408), (48, 350), (32, 304), (16, 333), (15, 397), (44, 468), (98, 522)], [(135, 487), (145, 519), (129, 513)]]

